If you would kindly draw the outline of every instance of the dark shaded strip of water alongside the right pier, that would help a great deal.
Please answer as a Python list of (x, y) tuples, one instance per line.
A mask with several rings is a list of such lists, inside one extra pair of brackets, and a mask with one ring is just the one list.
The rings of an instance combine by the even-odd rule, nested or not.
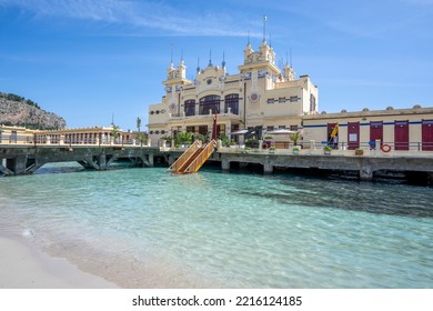
[[(205, 170), (216, 171), (214, 168)], [(397, 178), (384, 177), (374, 181), (359, 181), (353, 174), (311, 170), (306, 174), (280, 171), (272, 175), (263, 175), (256, 170), (235, 170), (230, 173), (263, 177), (269, 182), (261, 191), (252, 187), (239, 189), (236, 192), (240, 195), (275, 200), (281, 204), (414, 218), (433, 217), (433, 189), (411, 185), (406, 180)]]

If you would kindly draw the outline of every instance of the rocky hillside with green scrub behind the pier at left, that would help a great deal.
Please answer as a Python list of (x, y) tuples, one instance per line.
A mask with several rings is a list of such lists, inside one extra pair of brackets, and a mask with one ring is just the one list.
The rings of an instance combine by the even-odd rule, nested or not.
[(0, 92), (0, 124), (40, 130), (64, 129), (67, 127), (63, 118), (42, 110), (38, 103), (2, 92)]

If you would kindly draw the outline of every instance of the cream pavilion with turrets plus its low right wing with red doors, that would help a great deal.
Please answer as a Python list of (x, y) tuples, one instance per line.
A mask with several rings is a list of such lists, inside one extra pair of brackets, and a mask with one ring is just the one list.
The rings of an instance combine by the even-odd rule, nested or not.
[[(152, 146), (181, 131), (210, 137), (216, 113), (218, 134), (231, 140), (236, 138), (231, 133), (241, 129), (261, 127), (269, 132), (283, 128), (299, 131), (304, 149), (332, 143), (340, 150), (370, 150), (380, 141), (393, 152), (433, 151), (433, 108), (416, 104), (412, 109), (319, 113), (318, 87), (309, 76), (296, 79), (289, 63), (281, 69), (275, 66), (275, 52), (265, 40), (256, 51), (248, 42), (238, 69), (236, 74), (228, 74), (224, 61), (221, 67), (210, 61), (207, 68), (197, 68), (191, 81), (183, 60), (178, 68), (171, 62), (162, 82), (165, 96), (149, 107)], [(276, 148), (290, 148), (289, 137), (285, 140), (275, 143)]]

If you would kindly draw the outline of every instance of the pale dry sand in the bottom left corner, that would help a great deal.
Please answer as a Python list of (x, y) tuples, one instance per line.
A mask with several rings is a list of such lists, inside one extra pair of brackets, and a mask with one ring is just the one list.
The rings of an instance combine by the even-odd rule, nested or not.
[(0, 231), (0, 289), (115, 289), (63, 258), (44, 253), (18, 234)]

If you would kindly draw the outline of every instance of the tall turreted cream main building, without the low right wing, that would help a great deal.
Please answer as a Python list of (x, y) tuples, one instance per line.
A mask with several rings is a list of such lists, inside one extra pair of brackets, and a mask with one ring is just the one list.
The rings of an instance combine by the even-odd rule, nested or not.
[(194, 81), (187, 79), (183, 60), (171, 62), (161, 103), (149, 107), (149, 137), (153, 146), (161, 137), (180, 131), (210, 136), (214, 114), (218, 133), (263, 126), (264, 129), (301, 127), (302, 116), (318, 113), (318, 87), (309, 76), (295, 79), (293, 68), (275, 66), (275, 52), (265, 40), (258, 51), (246, 44), (239, 73), (228, 74), (225, 62), (209, 61), (197, 68)]

